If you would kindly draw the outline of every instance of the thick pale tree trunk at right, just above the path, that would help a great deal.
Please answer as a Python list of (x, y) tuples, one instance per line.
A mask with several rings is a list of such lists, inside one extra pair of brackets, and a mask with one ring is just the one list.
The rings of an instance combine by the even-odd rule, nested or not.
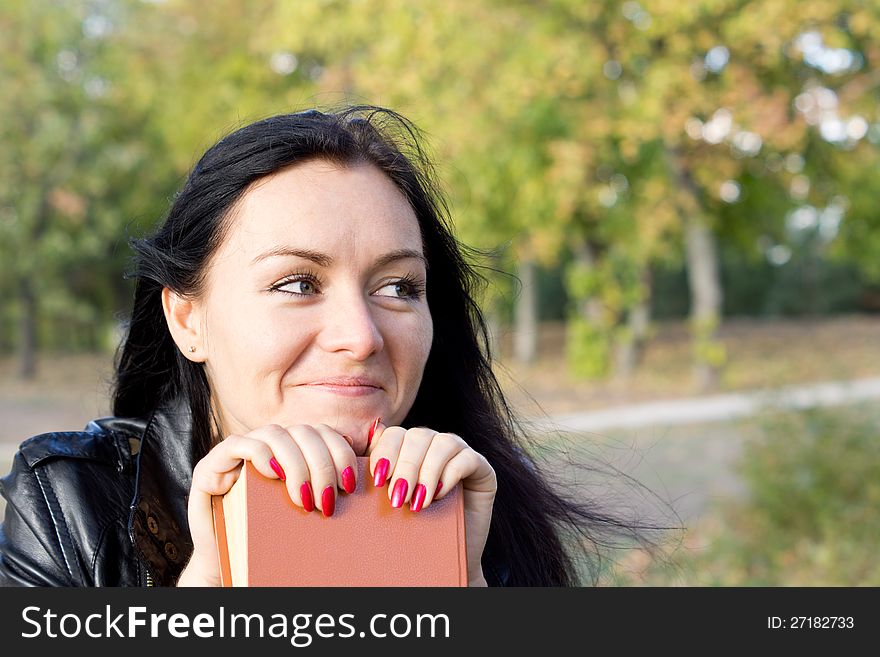
[(695, 376), (702, 390), (718, 383), (718, 365), (701, 350), (715, 341), (721, 318), (721, 278), (718, 246), (712, 231), (698, 218), (687, 220), (686, 253), (688, 286), (691, 293), (691, 320), (696, 332)]

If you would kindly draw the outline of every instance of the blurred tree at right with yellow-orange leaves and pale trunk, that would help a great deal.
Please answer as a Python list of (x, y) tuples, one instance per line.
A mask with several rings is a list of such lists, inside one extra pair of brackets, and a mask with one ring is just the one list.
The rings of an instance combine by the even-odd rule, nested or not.
[[(625, 228), (598, 246), (595, 236), (602, 231), (592, 230), (592, 262), (581, 258), (578, 264), (582, 271), (613, 268), (620, 246), (628, 243), (628, 262), (644, 271), (647, 262), (669, 257), (663, 253), (669, 248), (665, 237), (680, 235), (676, 251), (689, 274), (698, 381), (712, 386), (724, 362), (715, 339), (723, 302), (717, 241), (735, 240), (748, 250), (757, 245), (771, 258), (783, 255), (775, 247), (790, 233), (791, 217), (807, 193), (822, 197), (816, 202), (825, 205), (829, 226), (835, 217), (839, 221), (835, 194), (843, 171), (835, 167), (841, 156), (855, 161), (846, 151), (859, 142), (854, 135), (864, 136), (866, 122), (846, 119), (845, 134), (829, 138), (829, 130), (840, 132), (842, 119), (826, 112), (811, 120), (802, 108), (818, 94), (816, 107), (824, 102), (828, 110), (836, 109), (830, 87), (851, 89), (865, 102), (865, 90), (876, 87), (870, 66), (876, 56), (867, 44), (877, 12), (862, 2), (822, 0), (686, 5), (654, 0), (588, 7), (548, 0), (542, 8), (561, 12), (564, 23), (600, 44), (604, 52), (590, 61), (603, 62), (602, 73), (611, 81), (603, 84), (595, 77), (584, 83), (577, 123), (584, 126), (581, 142), (597, 153), (591, 166), (597, 174), (604, 167), (611, 183), (600, 188), (608, 208), (596, 217), (603, 224), (620, 221), (615, 215), (623, 202)], [(861, 26), (861, 36), (853, 25)], [(812, 150), (817, 142), (820, 148)], [(866, 160), (876, 161), (875, 148), (862, 151), (870, 151), (862, 153)], [(815, 192), (800, 175), (807, 160), (811, 166), (835, 163), (823, 167), (827, 178)], [(626, 177), (627, 166), (638, 175)], [(617, 188), (612, 171), (624, 176)], [(621, 187), (628, 190), (628, 203)], [(591, 190), (581, 190), (578, 202), (587, 208)], [(602, 253), (610, 258), (608, 265)], [(584, 289), (601, 299), (609, 288)], [(616, 313), (611, 317), (612, 323), (619, 321)], [(592, 318), (587, 325), (591, 331), (601, 326)]]

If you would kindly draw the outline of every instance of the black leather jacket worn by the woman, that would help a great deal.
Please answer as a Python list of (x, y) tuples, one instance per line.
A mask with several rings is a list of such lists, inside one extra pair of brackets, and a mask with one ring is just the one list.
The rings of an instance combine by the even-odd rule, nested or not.
[[(182, 406), (22, 443), (0, 479), (0, 585), (173, 586), (192, 554), (195, 458)], [(483, 557), (490, 585), (506, 568)]]

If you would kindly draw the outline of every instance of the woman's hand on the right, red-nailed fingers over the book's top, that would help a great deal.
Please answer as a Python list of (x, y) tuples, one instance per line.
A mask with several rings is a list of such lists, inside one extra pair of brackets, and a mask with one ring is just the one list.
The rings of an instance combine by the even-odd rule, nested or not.
[(453, 433), (427, 427), (386, 427), (381, 422), (367, 454), (373, 484), (387, 483), (391, 505), (397, 508), (409, 504), (412, 511), (420, 511), (461, 482), (468, 585), (486, 586), (481, 559), (498, 488), (495, 471), (486, 458)]

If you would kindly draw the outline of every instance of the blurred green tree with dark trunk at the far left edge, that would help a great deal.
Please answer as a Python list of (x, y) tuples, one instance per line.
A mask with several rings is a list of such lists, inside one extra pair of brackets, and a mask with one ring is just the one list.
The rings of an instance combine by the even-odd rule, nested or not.
[[(113, 108), (95, 64), (106, 25), (88, 3), (13, 0), (0, 23), (0, 286), (15, 299), (20, 370), (32, 377), (41, 308), (74, 324), (95, 318), (78, 267), (115, 237), (89, 210), (102, 168), (124, 157), (100, 147)], [(66, 293), (77, 285), (82, 294)]]

